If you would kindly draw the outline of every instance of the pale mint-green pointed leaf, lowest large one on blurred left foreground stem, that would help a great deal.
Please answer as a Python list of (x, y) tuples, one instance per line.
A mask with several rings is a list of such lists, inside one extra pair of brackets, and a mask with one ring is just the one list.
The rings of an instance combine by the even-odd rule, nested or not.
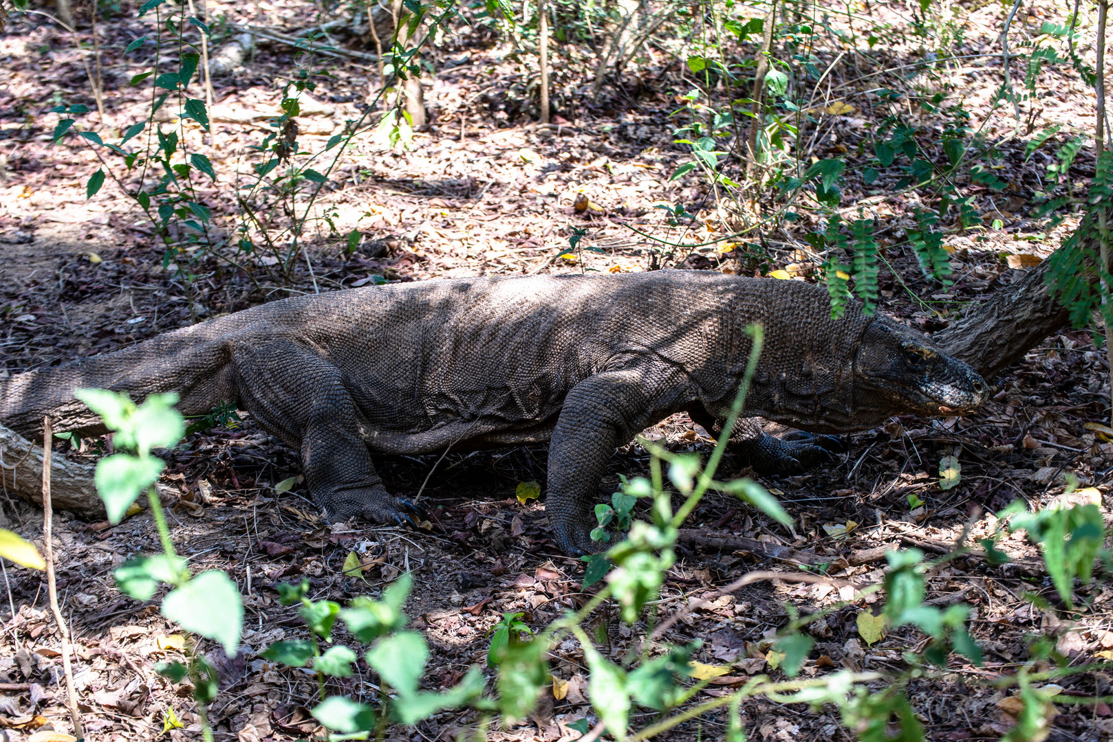
[(232, 657), (239, 646), (244, 624), (244, 603), (236, 583), (228, 575), (209, 570), (171, 591), (162, 598), (162, 615), (186, 631), (224, 645)]

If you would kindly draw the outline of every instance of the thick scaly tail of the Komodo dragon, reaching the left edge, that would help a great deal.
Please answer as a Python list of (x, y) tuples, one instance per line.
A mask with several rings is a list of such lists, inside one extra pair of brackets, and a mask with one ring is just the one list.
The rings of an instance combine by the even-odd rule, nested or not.
[(42, 418), (53, 429), (105, 432), (100, 418), (79, 402), (80, 388), (126, 392), (135, 402), (175, 392), (185, 415), (204, 415), (221, 402), (237, 404), (227, 336), (210, 323), (159, 335), (138, 345), (0, 379), (0, 424), (27, 437), (41, 436)]

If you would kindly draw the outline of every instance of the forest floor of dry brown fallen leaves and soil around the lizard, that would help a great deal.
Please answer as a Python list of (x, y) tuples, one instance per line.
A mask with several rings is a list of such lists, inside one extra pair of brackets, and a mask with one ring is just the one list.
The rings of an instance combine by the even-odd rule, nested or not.
[[(253, 4), (249, 10), (246, 4), (223, 2), (210, 3), (209, 13), (226, 12), (238, 22), (290, 31), (313, 23), (307, 8), (292, 0)], [(996, 43), (992, 29), (1002, 12), (991, 4), (975, 14), (964, 51), (974, 53), (979, 44)], [(1038, 27), (1043, 12), (1035, 6), (1031, 11), (1025, 8), (1016, 32)], [(87, 118), (90, 128), (118, 133), (135, 120), (146, 95), (126, 82), (144, 71), (145, 63), (125, 57), (122, 49), (150, 28), (145, 21), (117, 16), (101, 21), (99, 30), (107, 110), (102, 122), (95, 113)], [(88, 47), (87, 24), (78, 36)], [(913, 46), (890, 47), (888, 65), (897, 66), (903, 55), (912, 58)], [(380, 280), (621, 273), (648, 269), (653, 260), (736, 274), (767, 274), (788, 266), (810, 277), (815, 268), (799, 247), (802, 236), (816, 227), (806, 214), (796, 233), (786, 227), (747, 246), (754, 251), (742, 247), (722, 251), (711, 245), (662, 254), (632, 229), (688, 245), (731, 230), (729, 214), (719, 208), (706, 181), (696, 175), (670, 180), (676, 168), (690, 159), (686, 147), (673, 144), (672, 133), (678, 96), (690, 88), (682, 66), (653, 52), (656, 58), (642, 63), (638, 75), (605, 87), (598, 102), (591, 101), (590, 75), (577, 79), (565, 68), (558, 76), (559, 126), (538, 127), (520, 95), (521, 68), (476, 23), (457, 28), (443, 47), (426, 56), (435, 69), (435, 79), (430, 75), (426, 81), (432, 123), (415, 132), (408, 149), (392, 149), (367, 137), (354, 140), (345, 151), (319, 199), (338, 233), (322, 231), (309, 239), (292, 281), (269, 280), (266, 270), (274, 264), (262, 256), (253, 277), (200, 259), (190, 265), (197, 277), (186, 286), (176, 265), (164, 266), (165, 247), (156, 243), (150, 224), (111, 182), (86, 199), (86, 180), (96, 168), (91, 150), (75, 138), (51, 144), (57, 117), (48, 113), (50, 107), (65, 101), (93, 108), (80, 53), (70, 34), (41, 16), (13, 18), (0, 33), (4, 373), (112, 350), (188, 324), (193, 317), (235, 311), (290, 293)], [(836, 109), (841, 112), (828, 115), (816, 127), (809, 155), (821, 158), (849, 149), (853, 165), (853, 150), (864, 131), (884, 113), (867, 105), (866, 85), (854, 81), (859, 63), (877, 59), (861, 55), (854, 65), (833, 66), (834, 89), (850, 108)], [(217, 228), (227, 235), (236, 228), (235, 200), (229, 196), (234, 171), (240, 176), (248, 171), (247, 147), (269, 131), (267, 117), (274, 115), (293, 67), (289, 47), (260, 43), (249, 63), (214, 80), (215, 102), (224, 107), (223, 113), (213, 111), (213, 162), (220, 175), (200, 192), (213, 208)], [(370, 62), (339, 60), (332, 69), (335, 77), (322, 78), (313, 92), (319, 106), (299, 119), (299, 141), (307, 150), (322, 150), (345, 119), (357, 118), (356, 103), (377, 81)], [(1045, 187), (1052, 157), (1037, 150), (1036, 157), (1025, 159), (1031, 136), (1013, 136), (1009, 111), (988, 116), (987, 101), (999, 85), (999, 57), (976, 58), (940, 67), (930, 78), (952, 91), (961, 90), (975, 120), (992, 118), (984, 132), (997, 144), (999, 177), (1009, 181), (1001, 192), (974, 189), (985, 228), (947, 235), (955, 285), (944, 290), (927, 283), (910, 253), (885, 250), (886, 239), (880, 240), (881, 309), (928, 332), (944, 327), (946, 316), (958, 308), (1008, 286), (1024, 266), (1057, 247), (1076, 224), (1074, 214), (1061, 215), (1065, 218), (1052, 226), (1047, 217), (1028, 216), (1030, 199)], [(1040, 99), (1043, 125), (1064, 126), (1047, 147), (1084, 131), (1078, 128), (1082, 119), (1091, 117), (1078, 111), (1092, 110), (1092, 102), (1083, 86), (1052, 72), (1038, 82), (1046, 91)], [(828, 97), (824, 106), (833, 100)], [(927, 131), (926, 145), (935, 123), (927, 113), (917, 116)], [(183, 131), (184, 137), (200, 137), (196, 127)], [(892, 189), (884, 178), (863, 182), (855, 170), (847, 170), (844, 204)], [(1062, 188), (1078, 191), (1093, 170), (1092, 152), (1083, 150)], [(581, 194), (590, 206), (578, 210)], [(668, 227), (654, 208), (662, 204), (683, 204), (698, 219)], [(875, 199), (867, 208), (869, 215), (896, 226), (906, 207), (899, 199)], [(347, 254), (344, 235), (353, 228), (362, 241)], [(577, 229), (585, 230), (580, 249), (574, 258), (562, 257)], [(246, 263), (248, 257), (237, 259)], [(786, 606), (811, 612), (879, 582), (885, 566), (880, 546), (916, 546), (942, 554), (953, 548), (964, 530), (968, 538), (991, 536), (996, 527), (992, 513), (1015, 499), (1043, 506), (1063, 497), (1067, 474), (1081, 485), (1096, 487), (1096, 495), (1083, 496), (1095, 497), (1109, 514), (1113, 444), (1083, 427), (1104, 421), (1109, 402), (1109, 368), (1090, 334), (1067, 332), (1048, 338), (993, 383), (993, 402), (976, 415), (894, 419), (849, 436), (849, 453), (830, 465), (802, 476), (761, 479), (795, 518), (794, 530), (721, 495), (703, 501), (689, 521), (691, 531), (678, 547), (678, 563), (657, 606), (662, 616), (680, 614), (663, 641), (702, 640), (693, 660), (730, 669), (698, 700), (722, 694), (756, 673), (776, 674), (766, 656), (770, 636), (786, 621)], [(684, 416), (648, 432), (673, 451), (707, 452), (709, 441), (702, 433)], [(57, 455), (93, 458), (91, 451), (81, 454), (63, 443), (57, 449)], [(940, 489), (938, 464), (949, 454), (962, 463), (962, 479)], [(235, 427), (189, 436), (168, 461), (164, 482), (179, 493), (169, 501), (179, 552), (197, 570), (228, 573), (245, 601), (240, 654), (227, 660), (219, 651), (210, 652), (221, 677), (211, 712), (218, 740), (295, 740), (319, 731), (307, 712), (315, 703), (314, 679), (257, 656), (273, 641), (306, 635), (294, 609), (278, 604), (279, 582), (306, 578), (313, 597), (344, 603), (357, 594), (377, 594), (402, 572), (411, 573), (414, 592), (406, 612), (411, 625), (423, 631), (431, 644), (424, 685), (434, 690), (452, 685), (473, 664), (485, 666), (489, 631), (502, 613), (522, 612), (535, 627), (584, 600), (582, 563), (555, 547), (543, 499), (515, 498), (520, 483), (544, 483), (543, 447), (449, 453), (439, 465), (437, 456), (384, 458), (380, 472), (392, 492), (410, 496), (422, 492), (433, 515), (427, 533), (323, 523), (304, 485), (276, 489), (299, 474), (296, 453), (249, 418)], [(601, 498), (613, 492), (619, 474), (643, 474), (648, 461), (638, 445), (620, 449)], [(726, 468), (732, 475), (747, 473), (730, 455)], [(154, 671), (156, 663), (181, 656), (180, 635), (156, 603), (124, 596), (111, 576), (128, 556), (158, 547), (149, 514), (145, 511), (116, 526), (86, 523), (67, 513), (58, 514), (57, 521), (59, 598), (75, 634), (75, 681), (90, 739), (159, 738), (166, 732), (169, 710), (185, 726), (171, 729), (171, 739), (199, 739), (193, 702)], [(41, 511), (21, 502), (0, 507), (0, 526), (41, 538)], [(716, 541), (715, 534), (722, 538)], [(730, 541), (739, 535), (755, 541), (748, 546)], [(1038, 551), (1020, 537), (999, 547), (1014, 561), (991, 566), (967, 555), (929, 572), (933, 604), (963, 601), (973, 607), (972, 631), (986, 656), (981, 667), (953, 657), (945, 675), (912, 683), (909, 698), (932, 740), (998, 739), (1012, 728), (1015, 708), (1008, 692), (982, 681), (1024, 662), (1033, 633), (1053, 633), (1060, 651), (1074, 662), (1113, 647), (1113, 590), (1102, 583), (1082, 588), (1091, 610), (1077, 621), (1061, 621), (1055, 612), (1024, 597), (1034, 593), (1060, 604), (1042, 576)], [(351, 552), (368, 565), (362, 580), (343, 574)], [(818, 567), (825, 581), (802, 586), (762, 582), (690, 607), (746, 571), (791, 571), (796, 564)], [(45, 578), (9, 565), (4, 580), (0, 739), (19, 742), (46, 723), (66, 730), (69, 722), (58, 685), (59, 640), (47, 607)], [(806, 675), (904, 662), (903, 653), (923, 641), (917, 632), (897, 630), (873, 644), (858, 633), (858, 613), (876, 601), (876, 595), (866, 596), (809, 626), (817, 647), (804, 667)], [(604, 651), (617, 660), (643, 626), (631, 630), (615, 612), (604, 611), (589, 629), (607, 637)], [(343, 631), (338, 641), (358, 649)], [(366, 672), (366, 665), (358, 664)], [(583, 718), (594, 723), (584, 661), (574, 642), (558, 647), (553, 675), (568, 683), (556, 684), (560, 699), (546, 696), (530, 720), (491, 731), (487, 739), (574, 740), (579, 732), (569, 724)], [(1065, 695), (1109, 692), (1107, 686), (1095, 687), (1089, 675), (1060, 684)], [(361, 677), (331, 681), (331, 690), (354, 698), (373, 695)], [(1113, 712), (1105, 704), (1057, 709), (1051, 740), (1096, 742), (1113, 732)], [(829, 711), (752, 700), (743, 703), (742, 712), (748, 735), (762, 742), (853, 739)], [(636, 713), (632, 721), (644, 726), (654, 718)], [(454, 740), (474, 722), (473, 715), (443, 713), (411, 730), (394, 729), (388, 739)], [(718, 740), (725, 726), (723, 713), (707, 714), (681, 725), (671, 738)]]

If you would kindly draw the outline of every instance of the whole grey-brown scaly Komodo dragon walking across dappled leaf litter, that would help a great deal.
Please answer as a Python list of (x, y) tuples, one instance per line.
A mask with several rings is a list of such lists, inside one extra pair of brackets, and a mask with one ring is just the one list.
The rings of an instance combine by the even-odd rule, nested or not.
[[(649, 425), (729, 408), (766, 345), (746, 414), (812, 433), (903, 413), (952, 415), (985, 382), (924, 335), (795, 280), (697, 270), (456, 278), (302, 296), (165, 333), (130, 348), (0, 382), (0, 422), (35, 435), (96, 431), (80, 387), (137, 400), (177, 392), (186, 415), (229, 402), (302, 453), (326, 517), (404, 522), (372, 453), (550, 443), (548, 513), (560, 546), (592, 551), (608, 458)], [(104, 429), (104, 428), (100, 428)], [(40, 434), (41, 435), (41, 434)], [(742, 422), (733, 444), (765, 469), (816, 463), (837, 438), (778, 439)]]

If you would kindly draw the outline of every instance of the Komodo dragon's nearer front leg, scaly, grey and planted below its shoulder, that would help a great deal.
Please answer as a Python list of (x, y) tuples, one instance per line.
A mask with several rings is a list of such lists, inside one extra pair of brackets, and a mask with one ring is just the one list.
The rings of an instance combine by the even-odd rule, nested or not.
[(568, 554), (599, 551), (593, 505), (607, 462), (647, 426), (683, 409), (687, 377), (676, 370), (624, 368), (577, 384), (564, 399), (549, 445), (545, 511)]

